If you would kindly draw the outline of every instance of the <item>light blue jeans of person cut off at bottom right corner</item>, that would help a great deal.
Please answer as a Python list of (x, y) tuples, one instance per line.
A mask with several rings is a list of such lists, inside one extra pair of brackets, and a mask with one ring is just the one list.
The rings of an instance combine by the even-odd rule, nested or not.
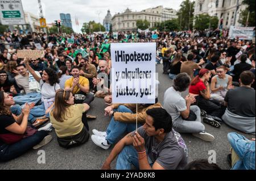
[(255, 170), (255, 141), (250, 141), (238, 133), (229, 133), (228, 140), (240, 157), (232, 170)]

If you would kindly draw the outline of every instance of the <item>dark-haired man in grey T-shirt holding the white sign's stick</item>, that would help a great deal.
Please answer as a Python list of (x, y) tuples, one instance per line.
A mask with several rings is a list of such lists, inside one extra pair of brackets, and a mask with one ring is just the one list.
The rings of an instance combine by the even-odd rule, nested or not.
[(117, 158), (117, 170), (180, 170), (188, 160), (188, 149), (179, 133), (172, 129), (172, 118), (163, 108), (146, 111), (146, 123), (115, 145), (103, 170)]

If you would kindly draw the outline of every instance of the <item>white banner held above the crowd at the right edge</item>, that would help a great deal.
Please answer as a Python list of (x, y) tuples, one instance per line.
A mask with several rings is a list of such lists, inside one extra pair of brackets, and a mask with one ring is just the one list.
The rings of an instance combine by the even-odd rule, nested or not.
[(230, 26), (229, 39), (253, 40), (255, 27), (234, 27)]

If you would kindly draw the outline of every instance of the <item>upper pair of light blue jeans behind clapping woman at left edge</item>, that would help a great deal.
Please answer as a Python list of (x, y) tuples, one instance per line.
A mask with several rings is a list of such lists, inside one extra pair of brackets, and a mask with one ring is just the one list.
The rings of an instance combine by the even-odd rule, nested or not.
[(41, 100), (41, 94), (37, 92), (31, 92), (25, 95), (15, 96), (13, 100), (15, 101), (15, 104), (19, 105), (23, 105), (25, 103), (38, 104), (38, 102)]

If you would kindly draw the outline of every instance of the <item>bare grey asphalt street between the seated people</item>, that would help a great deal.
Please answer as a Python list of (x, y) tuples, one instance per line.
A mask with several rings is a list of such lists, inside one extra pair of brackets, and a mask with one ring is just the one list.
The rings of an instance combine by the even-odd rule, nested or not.
[[(162, 74), (162, 65), (157, 65), (156, 70), (159, 73), (159, 101), (163, 103), (164, 92), (168, 87), (172, 86), (171, 79), (168, 75)], [(183, 94), (185, 96), (186, 93)], [(96, 115), (96, 120), (89, 121), (90, 134), (92, 129), (98, 131), (105, 131), (109, 124), (109, 117), (104, 116), (104, 108), (106, 104), (102, 99), (95, 99), (90, 106), (90, 115)], [(216, 153), (216, 163), (221, 169), (230, 169), (228, 161), (226, 160), (229, 154), (230, 145), (228, 142), (227, 134), (229, 132), (238, 132), (225, 124), (222, 124), (220, 129), (210, 127), (205, 124), (205, 131), (213, 134), (216, 138), (213, 142), (205, 142), (199, 138), (193, 137), (191, 134), (181, 134), (188, 146), (189, 162), (196, 159), (208, 159), (212, 155), (212, 150)], [(241, 133), (241, 132), (238, 132)], [(6, 163), (0, 163), (0, 170), (4, 169), (67, 169), (67, 170), (98, 170), (101, 169), (102, 164), (108, 157), (110, 151), (103, 150), (93, 144), (89, 139), (86, 144), (73, 149), (63, 149), (57, 144), (55, 131), (50, 133), (53, 140), (40, 150), (46, 153), (46, 163), (39, 164), (38, 157), (39, 150), (30, 150), (26, 154)], [(247, 138), (255, 136), (251, 134), (243, 134)], [(39, 154), (38, 154), (39, 153)], [(112, 169), (115, 168), (115, 162), (112, 164)]]

